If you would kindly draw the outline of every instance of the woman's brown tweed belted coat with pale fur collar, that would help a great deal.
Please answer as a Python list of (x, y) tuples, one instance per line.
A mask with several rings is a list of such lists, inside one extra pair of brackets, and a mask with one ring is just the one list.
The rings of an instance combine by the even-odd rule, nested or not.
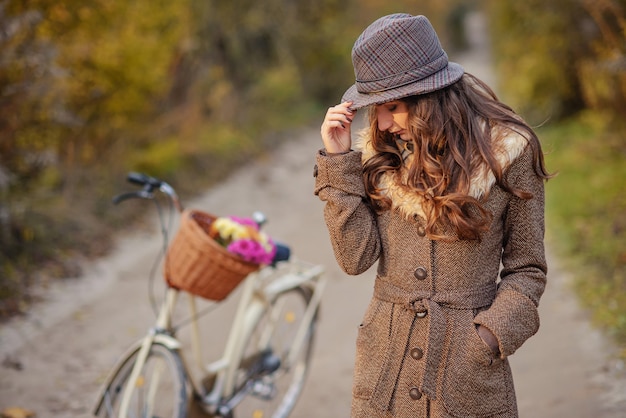
[[(507, 357), (539, 328), (547, 272), (543, 181), (526, 139), (508, 134), (496, 144), (497, 157), (509, 184), (534, 198), (517, 198), (495, 184), (490, 170), (478, 170), (471, 194), (493, 221), (474, 241), (428, 239), (422, 198), (391, 178), (381, 186), (393, 209), (374, 214), (362, 180), (372, 150), (355, 148), (320, 151), (315, 170), (339, 265), (356, 275), (378, 261), (357, 337), (352, 417), (517, 417)], [(498, 358), (477, 324), (498, 339)]]

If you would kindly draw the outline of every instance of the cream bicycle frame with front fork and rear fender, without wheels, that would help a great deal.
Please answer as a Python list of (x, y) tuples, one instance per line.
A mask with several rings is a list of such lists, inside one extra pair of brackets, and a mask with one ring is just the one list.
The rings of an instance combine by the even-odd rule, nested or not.
[[(319, 265), (308, 265), (298, 260), (290, 261), (289, 265), (293, 266), (294, 271), (274, 277), (273, 268), (266, 267), (259, 272), (251, 274), (244, 280), (235, 318), (222, 357), (209, 364), (204, 364), (202, 360), (196, 297), (189, 295), (192, 351), (196, 366), (205, 373), (216, 374), (215, 384), (210, 392), (207, 393), (207, 390), (204, 389), (201, 384), (198, 384), (196, 379), (189, 373), (192, 368), (188, 367), (185, 356), (181, 353), (180, 342), (175, 337), (168, 334), (168, 330), (171, 329), (172, 313), (180, 293), (178, 290), (172, 288), (169, 288), (166, 292), (165, 300), (159, 311), (155, 326), (135, 345), (135, 349), (139, 347), (139, 354), (133, 366), (129, 381), (134, 382), (137, 380), (150, 351), (150, 347), (158, 342), (171, 350), (179, 352), (186, 369), (185, 374), (194, 392), (200, 395), (205, 407), (210, 407), (214, 409), (212, 412), (216, 412), (217, 408), (220, 407), (219, 403), (223, 399), (227, 399), (229, 402), (225, 405), (225, 408), (227, 408), (227, 410), (234, 408), (241, 400), (240, 397), (236, 396), (237, 394), (232, 393), (232, 389), (235, 384), (235, 372), (237, 371), (238, 361), (241, 359), (243, 350), (245, 349), (245, 337), (250, 334), (259, 316), (266, 310), (267, 306), (280, 294), (299, 286), (306, 286), (312, 290), (312, 298), (307, 305), (304, 318), (300, 324), (300, 328), (296, 331), (294, 343), (287, 357), (287, 362), (291, 364), (294, 360), (294, 356), (297, 355), (302, 346), (308, 327), (320, 304), (326, 282), (326, 279), (323, 277), (323, 267)], [(127, 385), (125, 388), (120, 408), (120, 418), (124, 418), (127, 415), (133, 389), (133, 385)], [(245, 394), (241, 394), (241, 397), (243, 397), (243, 395)]]

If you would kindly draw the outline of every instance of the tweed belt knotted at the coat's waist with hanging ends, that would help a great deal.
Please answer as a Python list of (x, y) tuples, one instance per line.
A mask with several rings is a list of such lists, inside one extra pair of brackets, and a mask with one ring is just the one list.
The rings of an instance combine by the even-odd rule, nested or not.
[(413, 316), (402, 315), (406, 323), (397, 324), (391, 336), (390, 349), (385, 358), (385, 373), (379, 379), (374, 390), (373, 402), (381, 409), (391, 407), (391, 400), (400, 376), (406, 344), (408, 343), (412, 323), (416, 319), (426, 318), (427, 343), (424, 351), (424, 374), (419, 389), (430, 399), (437, 397), (437, 372), (442, 360), (443, 346), (446, 334), (446, 317), (442, 309), (477, 309), (489, 306), (496, 295), (496, 284), (479, 288), (457, 291), (429, 292), (406, 291), (380, 278), (374, 283), (374, 297), (385, 302), (404, 306), (414, 312)]

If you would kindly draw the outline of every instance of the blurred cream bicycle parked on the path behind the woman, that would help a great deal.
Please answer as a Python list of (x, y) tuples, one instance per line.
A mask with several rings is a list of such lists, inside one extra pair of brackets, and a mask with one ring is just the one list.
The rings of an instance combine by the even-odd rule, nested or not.
[[(132, 198), (157, 202), (160, 192), (178, 213), (185, 213), (166, 182), (140, 173), (130, 173), (127, 179), (141, 189), (116, 196), (115, 203)], [(167, 255), (169, 228), (162, 215), (159, 219)], [(258, 225), (265, 223), (259, 213), (254, 219)], [(102, 385), (94, 416), (182, 418), (192, 410), (224, 418), (289, 416), (311, 361), (323, 272), (322, 266), (299, 260), (287, 246), (278, 245), (272, 264), (243, 280), (224, 352), (210, 362), (202, 359), (197, 296), (168, 285), (156, 323)], [(189, 295), (190, 317), (184, 325), (191, 326), (194, 367), (172, 320), (180, 293)]]

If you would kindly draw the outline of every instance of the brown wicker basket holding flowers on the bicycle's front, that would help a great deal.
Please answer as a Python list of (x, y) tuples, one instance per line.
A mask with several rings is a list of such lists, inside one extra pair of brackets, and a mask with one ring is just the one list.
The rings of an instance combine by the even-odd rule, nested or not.
[(183, 212), (165, 258), (164, 275), (176, 289), (220, 301), (259, 265), (230, 253), (209, 236), (215, 219), (198, 210)]

